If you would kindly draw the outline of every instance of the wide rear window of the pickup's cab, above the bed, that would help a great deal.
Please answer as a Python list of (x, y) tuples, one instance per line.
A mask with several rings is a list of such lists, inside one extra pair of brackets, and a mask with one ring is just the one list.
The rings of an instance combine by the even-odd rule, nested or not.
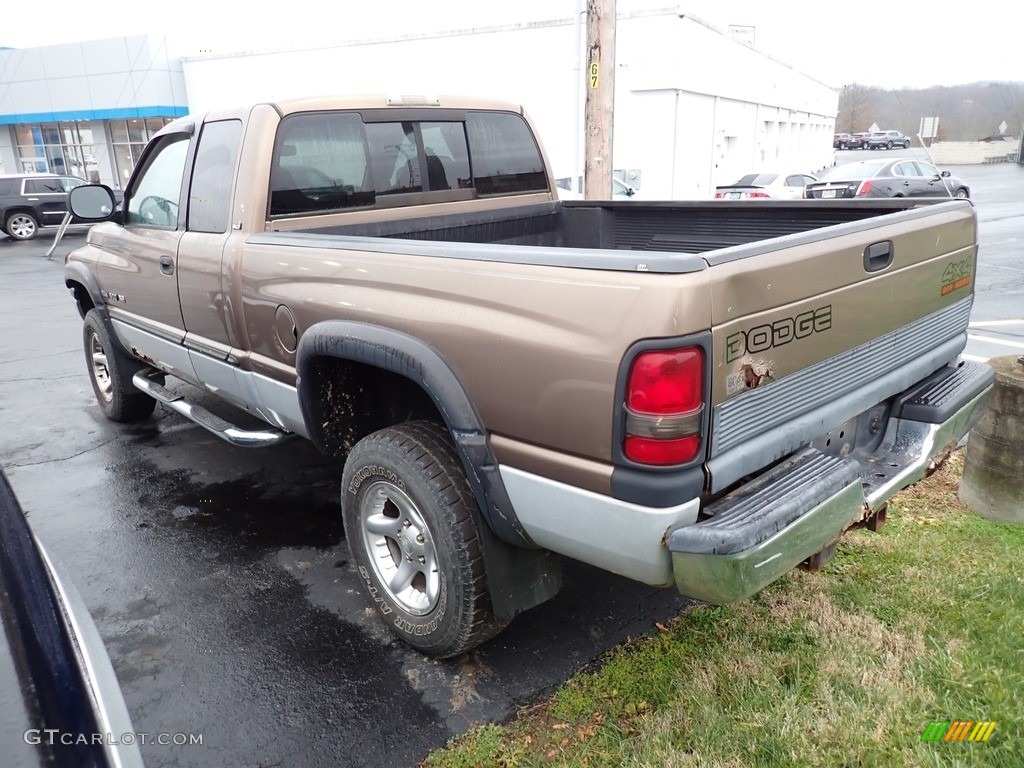
[(274, 142), (271, 218), (548, 191), (540, 146), (514, 113), (299, 113)]

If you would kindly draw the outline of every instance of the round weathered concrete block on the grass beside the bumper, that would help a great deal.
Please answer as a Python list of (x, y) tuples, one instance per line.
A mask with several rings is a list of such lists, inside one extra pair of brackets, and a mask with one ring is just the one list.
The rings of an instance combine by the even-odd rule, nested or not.
[(995, 386), (971, 430), (959, 499), (990, 520), (1024, 523), (1024, 357), (993, 357)]

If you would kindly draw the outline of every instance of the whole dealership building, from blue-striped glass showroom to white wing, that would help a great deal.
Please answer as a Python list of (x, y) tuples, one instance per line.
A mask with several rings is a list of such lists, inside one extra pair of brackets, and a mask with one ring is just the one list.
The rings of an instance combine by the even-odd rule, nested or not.
[[(145, 36), (0, 50), (0, 162), (8, 173), (123, 186), (150, 135), (186, 111), (322, 93), (459, 93), (523, 104), (556, 176), (582, 174), (578, 19), (380, 33), (184, 59)], [(621, 13), (615, 61), (614, 169), (644, 198), (702, 199), (744, 173), (833, 162), (837, 92), (697, 18)]]

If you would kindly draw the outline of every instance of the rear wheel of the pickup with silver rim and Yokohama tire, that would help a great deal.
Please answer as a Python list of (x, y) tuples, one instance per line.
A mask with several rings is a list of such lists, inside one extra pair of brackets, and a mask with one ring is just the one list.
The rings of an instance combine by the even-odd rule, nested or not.
[(490, 606), (476, 501), (444, 427), (406, 422), (362, 438), (341, 490), (352, 558), (394, 635), (444, 658), (505, 626)]

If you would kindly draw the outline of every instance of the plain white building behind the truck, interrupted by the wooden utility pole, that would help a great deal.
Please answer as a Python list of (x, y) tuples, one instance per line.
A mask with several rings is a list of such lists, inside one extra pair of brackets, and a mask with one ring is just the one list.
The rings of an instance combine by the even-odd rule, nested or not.
[[(384, 31), (382, 31), (384, 32)], [(571, 18), (187, 57), (188, 103), (329, 92), (489, 95), (525, 106), (559, 177), (582, 173), (580, 62)], [(621, 13), (616, 174), (645, 198), (708, 198), (752, 171), (833, 163), (838, 93), (677, 9)]]

